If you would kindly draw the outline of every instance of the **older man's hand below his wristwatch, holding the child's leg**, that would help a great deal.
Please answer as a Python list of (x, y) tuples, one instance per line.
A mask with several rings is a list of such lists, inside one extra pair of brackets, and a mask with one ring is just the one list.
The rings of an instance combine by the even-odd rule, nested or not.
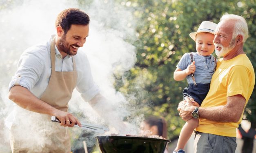
[(185, 104), (181, 105), (180, 107), (180, 117), (185, 121), (190, 120), (192, 118), (192, 111), (194, 111), (194, 109), (196, 108), (193, 105), (192, 101), (194, 101), (193, 98), (190, 99), (189, 97), (186, 97)]

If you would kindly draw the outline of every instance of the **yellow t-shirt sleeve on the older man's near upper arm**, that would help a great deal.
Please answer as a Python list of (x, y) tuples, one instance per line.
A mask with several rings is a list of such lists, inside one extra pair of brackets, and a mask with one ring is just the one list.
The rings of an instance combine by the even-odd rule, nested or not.
[(245, 66), (232, 67), (227, 76), (227, 97), (240, 94), (248, 101), (250, 78), (250, 71)]

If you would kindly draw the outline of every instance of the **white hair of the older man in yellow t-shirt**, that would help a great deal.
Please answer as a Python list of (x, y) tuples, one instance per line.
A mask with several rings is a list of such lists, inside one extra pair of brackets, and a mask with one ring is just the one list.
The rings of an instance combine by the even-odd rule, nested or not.
[(245, 42), (246, 39), (248, 38), (248, 26), (247, 26), (245, 18), (243, 18), (239, 15), (235, 15), (235, 14), (224, 14), (220, 18), (220, 21), (224, 21), (224, 20), (234, 20), (235, 21), (232, 38), (235, 39), (237, 35), (242, 35), (243, 42)]

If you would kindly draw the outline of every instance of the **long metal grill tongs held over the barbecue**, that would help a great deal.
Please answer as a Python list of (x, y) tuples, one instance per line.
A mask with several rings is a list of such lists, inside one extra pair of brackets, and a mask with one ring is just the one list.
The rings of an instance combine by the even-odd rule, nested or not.
[[(51, 121), (52, 122), (59, 122), (60, 120), (56, 118), (56, 116), (51, 116)], [(105, 133), (105, 131), (109, 131), (109, 128), (107, 127), (102, 127), (100, 125), (92, 125), (88, 123), (81, 123), (82, 129), (98, 132), (98, 133)], [(79, 127), (77, 124), (75, 124), (75, 127)]]

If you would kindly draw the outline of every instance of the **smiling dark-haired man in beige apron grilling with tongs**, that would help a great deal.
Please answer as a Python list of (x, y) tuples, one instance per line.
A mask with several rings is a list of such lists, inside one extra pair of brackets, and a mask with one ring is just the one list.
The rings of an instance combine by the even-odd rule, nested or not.
[[(57, 17), (57, 34), (21, 55), (9, 84), (9, 98), (18, 105), (10, 117), (13, 153), (70, 153), (67, 127), (81, 127), (79, 120), (67, 112), (75, 87), (85, 101), (96, 111), (105, 112), (107, 118), (111, 108), (109, 104), (98, 107), (105, 98), (93, 82), (87, 57), (78, 51), (89, 35), (89, 21), (80, 9), (66, 9)], [(51, 122), (51, 116), (61, 123)]]

